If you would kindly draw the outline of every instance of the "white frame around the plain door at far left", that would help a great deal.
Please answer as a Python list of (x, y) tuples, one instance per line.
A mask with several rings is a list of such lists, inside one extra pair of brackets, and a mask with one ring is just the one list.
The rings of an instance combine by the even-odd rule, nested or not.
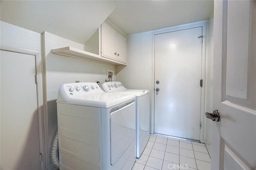
[[(26, 49), (16, 49), (12, 47), (4, 47), (0, 46), (0, 50), (10, 51), (14, 53), (22, 53), (26, 55), (32, 55), (35, 57), (35, 68), (37, 83), (36, 83), (36, 96), (37, 96), (37, 107), (38, 107), (38, 133), (39, 133), (39, 159), (40, 159), (40, 168), (41, 170), (45, 170), (47, 167), (47, 117), (44, 111), (44, 103), (43, 103), (43, 84), (42, 84), (42, 60), (40, 57), (40, 52), (38, 51), (30, 51)], [(36, 75), (35, 75), (36, 76)]]

